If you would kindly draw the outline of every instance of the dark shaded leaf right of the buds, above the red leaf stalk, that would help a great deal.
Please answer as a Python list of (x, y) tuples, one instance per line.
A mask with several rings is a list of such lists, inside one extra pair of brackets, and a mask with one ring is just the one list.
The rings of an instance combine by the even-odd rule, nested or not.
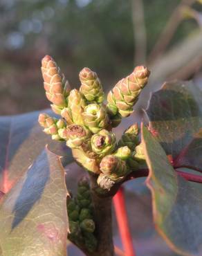
[[(201, 98), (201, 91), (192, 82), (169, 82), (153, 93), (149, 102), (146, 111), (149, 129), (165, 152), (172, 155), (174, 165), (178, 167), (199, 169), (201, 166), (202, 134), (199, 133), (202, 127)], [(192, 149), (194, 152), (191, 156)], [(187, 155), (190, 155), (189, 161)]]

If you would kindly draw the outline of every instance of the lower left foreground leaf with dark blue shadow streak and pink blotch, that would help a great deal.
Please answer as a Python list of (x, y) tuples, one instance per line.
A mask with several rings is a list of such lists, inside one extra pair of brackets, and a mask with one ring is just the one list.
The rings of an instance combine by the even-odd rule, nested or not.
[(66, 185), (59, 156), (44, 149), (3, 198), (0, 246), (3, 256), (66, 255)]

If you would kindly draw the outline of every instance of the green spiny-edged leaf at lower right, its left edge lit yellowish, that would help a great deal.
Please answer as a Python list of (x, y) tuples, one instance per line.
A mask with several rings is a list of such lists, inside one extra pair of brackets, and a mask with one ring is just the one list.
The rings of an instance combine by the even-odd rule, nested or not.
[(145, 127), (142, 136), (156, 229), (176, 253), (202, 255), (200, 190), (176, 174), (165, 151)]

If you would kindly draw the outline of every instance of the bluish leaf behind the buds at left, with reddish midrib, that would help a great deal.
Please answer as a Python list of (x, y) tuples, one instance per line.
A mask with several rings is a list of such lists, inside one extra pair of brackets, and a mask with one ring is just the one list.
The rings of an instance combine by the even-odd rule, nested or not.
[[(71, 162), (70, 150), (64, 143), (51, 140), (38, 124), (42, 111), (17, 116), (0, 117), (0, 191), (7, 193), (26, 172), (48, 144), (48, 149)], [(53, 115), (53, 112), (46, 113)]]

